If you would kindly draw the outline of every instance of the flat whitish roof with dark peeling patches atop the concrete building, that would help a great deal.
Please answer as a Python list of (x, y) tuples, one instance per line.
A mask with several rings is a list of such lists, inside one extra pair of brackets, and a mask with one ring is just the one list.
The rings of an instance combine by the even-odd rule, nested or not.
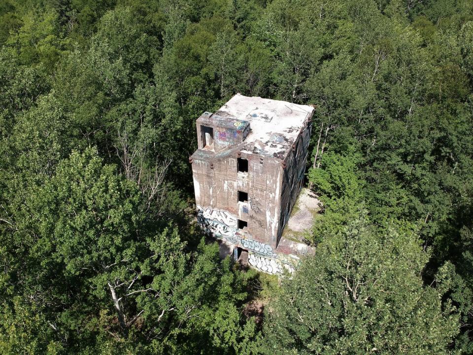
[(228, 118), (232, 124), (235, 120), (250, 123), (251, 131), (241, 143), (242, 152), (283, 159), (313, 111), (307, 105), (236, 94), (214, 116)]

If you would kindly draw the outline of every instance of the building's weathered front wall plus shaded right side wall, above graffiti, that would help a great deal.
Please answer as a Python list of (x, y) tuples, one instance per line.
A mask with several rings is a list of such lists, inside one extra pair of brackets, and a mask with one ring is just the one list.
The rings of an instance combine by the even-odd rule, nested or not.
[[(236, 232), (276, 249), (303, 185), (309, 139), (307, 124), (284, 161), (239, 149), (200, 151), (192, 162), (197, 205), (246, 221)], [(247, 173), (237, 171), (237, 158), (248, 160)], [(238, 202), (238, 191), (248, 193), (248, 202)]]

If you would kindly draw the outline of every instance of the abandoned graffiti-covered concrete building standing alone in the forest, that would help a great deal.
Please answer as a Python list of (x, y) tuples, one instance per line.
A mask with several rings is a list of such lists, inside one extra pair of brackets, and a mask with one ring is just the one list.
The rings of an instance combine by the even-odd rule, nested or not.
[(311, 106), (236, 94), (197, 119), (192, 164), (198, 221), (211, 236), (278, 274), (304, 246), (281, 236), (304, 181)]

